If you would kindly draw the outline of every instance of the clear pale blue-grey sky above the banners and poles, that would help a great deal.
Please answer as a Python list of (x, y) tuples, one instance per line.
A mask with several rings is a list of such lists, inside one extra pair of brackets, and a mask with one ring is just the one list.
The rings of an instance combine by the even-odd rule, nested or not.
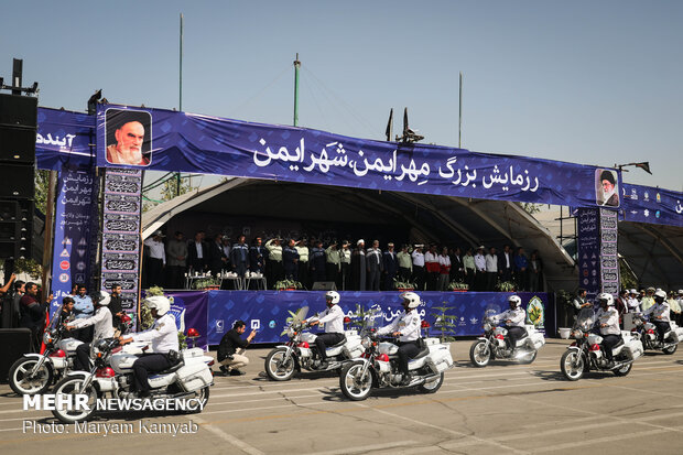
[[(0, 0), (0, 76), (40, 105), (116, 104), (599, 166), (683, 191), (683, 2)], [(207, 181), (208, 182), (208, 181)]]

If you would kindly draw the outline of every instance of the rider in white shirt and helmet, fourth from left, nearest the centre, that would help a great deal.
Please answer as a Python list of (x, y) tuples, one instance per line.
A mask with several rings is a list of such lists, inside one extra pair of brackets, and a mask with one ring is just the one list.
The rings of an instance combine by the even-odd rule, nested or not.
[(399, 370), (402, 373), (401, 386), (408, 386), (411, 377), (408, 362), (420, 353), (419, 339), (421, 338), (422, 321), (418, 313), (420, 295), (414, 292), (404, 292), (403, 311), (397, 315), (391, 324), (377, 331), (377, 335), (391, 333), (399, 337)]

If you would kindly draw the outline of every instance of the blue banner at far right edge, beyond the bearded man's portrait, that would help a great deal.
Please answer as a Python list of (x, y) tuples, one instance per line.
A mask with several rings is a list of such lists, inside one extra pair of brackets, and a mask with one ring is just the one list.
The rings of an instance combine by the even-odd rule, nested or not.
[(619, 220), (683, 227), (683, 193), (651, 186), (622, 186)]

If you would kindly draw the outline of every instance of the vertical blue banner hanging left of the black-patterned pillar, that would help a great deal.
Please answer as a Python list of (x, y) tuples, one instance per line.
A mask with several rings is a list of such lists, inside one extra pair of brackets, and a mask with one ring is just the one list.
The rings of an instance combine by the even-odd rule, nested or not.
[(87, 284), (90, 277), (90, 227), (94, 203), (94, 173), (63, 169), (58, 176), (53, 250), (54, 294), (52, 311), (71, 294), (74, 284)]

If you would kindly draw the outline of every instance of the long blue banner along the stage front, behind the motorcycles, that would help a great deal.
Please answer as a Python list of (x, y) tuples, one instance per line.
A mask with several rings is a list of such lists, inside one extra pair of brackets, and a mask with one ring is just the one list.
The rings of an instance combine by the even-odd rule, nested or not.
[[(339, 292), (342, 308), (355, 317), (356, 305), (366, 311), (380, 307), (384, 323), (402, 310), (398, 292)], [(423, 336), (438, 336), (441, 329), (436, 323), (443, 314), (455, 316), (451, 319), (453, 327), (445, 328), (444, 335), (480, 335), (481, 317), (487, 307), (497, 311), (508, 308), (509, 293), (502, 292), (420, 292), (423, 304), (418, 308), (423, 321), (430, 324), (423, 328)], [(174, 294), (175, 295), (175, 294)], [(528, 318), (533, 317), (542, 331), (555, 333), (554, 305), (550, 305), (550, 294), (521, 292), (518, 295), (528, 308)], [(253, 343), (280, 343), (286, 339), (281, 335), (286, 327), (286, 318), (302, 306), (308, 306), (308, 315), (325, 310), (325, 293), (315, 291), (208, 291), (208, 344), (217, 345), (220, 338), (232, 328), (232, 324), (245, 321), (249, 329), (258, 332)], [(445, 308), (445, 310), (440, 310)], [(530, 323), (528, 321), (528, 323)], [(347, 328), (351, 328), (347, 324)]]

